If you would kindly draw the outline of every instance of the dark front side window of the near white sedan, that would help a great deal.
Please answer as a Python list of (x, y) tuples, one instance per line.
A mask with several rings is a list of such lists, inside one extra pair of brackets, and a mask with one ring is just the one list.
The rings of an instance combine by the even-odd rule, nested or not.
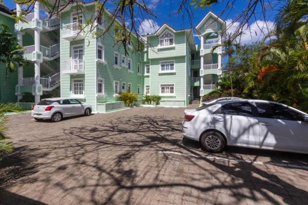
[(301, 113), (290, 108), (274, 103), (256, 103), (260, 117), (285, 119), (285, 120), (303, 120)]

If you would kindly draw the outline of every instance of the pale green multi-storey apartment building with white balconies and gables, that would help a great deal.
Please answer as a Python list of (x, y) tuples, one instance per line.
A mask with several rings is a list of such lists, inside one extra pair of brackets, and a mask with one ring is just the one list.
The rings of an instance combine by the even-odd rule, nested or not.
[[(48, 93), (78, 98), (90, 104), (93, 112), (108, 112), (124, 107), (119, 93), (126, 90), (139, 94), (139, 104), (147, 94), (160, 95), (159, 106), (186, 107), (216, 89), (223, 52), (220, 47), (210, 51), (223, 40), (225, 22), (214, 13), (205, 15), (195, 30), (175, 30), (164, 24), (157, 32), (142, 35), (142, 52), (134, 50), (137, 36), (132, 35), (125, 55), (122, 45), (114, 45), (117, 29), (94, 35), (111, 24), (107, 10), (94, 23), (94, 31), (90, 32), (91, 25), (83, 27), (98, 12), (95, 4), (84, 3), (83, 13), (70, 5), (59, 18), (49, 18), (36, 2), (34, 12), (25, 15), (26, 23), (16, 24), (8, 11), (0, 12), (0, 20), (9, 21), (25, 47), (25, 58), (31, 61), (10, 74), (7, 80), (13, 90), (1, 90), (2, 101), (20, 100), (30, 92), (37, 103)], [(21, 15), (21, 5), (16, 5), (16, 14)], [(115, 21), (111, 28), (119, 23)]]

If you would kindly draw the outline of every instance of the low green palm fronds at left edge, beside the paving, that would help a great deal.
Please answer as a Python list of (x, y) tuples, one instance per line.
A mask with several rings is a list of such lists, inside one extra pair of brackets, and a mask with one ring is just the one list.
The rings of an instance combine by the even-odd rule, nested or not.
[(12, 152), (14, 148), (10, 142), (5, 141), (6, 139), (8, 139), (8, 137), (6, 136), (7, 128), (4, 126), (4, 124), (7, 122), (7, 117), (4, 114), (8, 111), (18, 112), (20, 110), (21, 108), (14, 103), (0, 104), (0, 153)]

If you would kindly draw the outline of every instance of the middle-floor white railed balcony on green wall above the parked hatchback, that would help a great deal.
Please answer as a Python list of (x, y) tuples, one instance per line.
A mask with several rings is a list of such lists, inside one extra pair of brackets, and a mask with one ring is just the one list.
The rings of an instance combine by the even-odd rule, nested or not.
[(85, 73), (85, 61), (82, 59), (67, 59), (63, 60), (62, 67), (63, 74), (84, 74)]

